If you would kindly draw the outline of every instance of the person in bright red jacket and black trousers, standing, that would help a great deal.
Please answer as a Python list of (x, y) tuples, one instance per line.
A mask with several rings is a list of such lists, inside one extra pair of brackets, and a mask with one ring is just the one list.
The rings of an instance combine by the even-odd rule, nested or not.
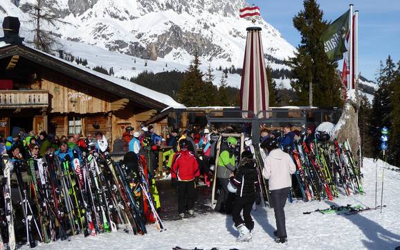
[(185, 217), (185, 211), (189, 215), (194, 214), (194, 179), (200, 175), (199, 163), (188, 147), (188, 140), (179, 141), (180, 151), (175, 154), (171, 170), (172, 183), (178, 187), (178, 213), (181, 218)]

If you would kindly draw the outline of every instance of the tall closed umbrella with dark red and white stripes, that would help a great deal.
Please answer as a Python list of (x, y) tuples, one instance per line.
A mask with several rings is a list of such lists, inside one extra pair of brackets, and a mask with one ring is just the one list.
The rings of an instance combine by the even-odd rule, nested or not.
[[(240, 85), (240, 101), (242, 110), (258, 111), (269, 109), (268, 82), (266, 82), (266, 70), (264, 50), (261, 42), (261, 28), (249, 27), (247, 30), (246, 50)], [(248, 114), (243, 114), (244, 118)], [(268, 118), (268, 113), (260, 115)]]

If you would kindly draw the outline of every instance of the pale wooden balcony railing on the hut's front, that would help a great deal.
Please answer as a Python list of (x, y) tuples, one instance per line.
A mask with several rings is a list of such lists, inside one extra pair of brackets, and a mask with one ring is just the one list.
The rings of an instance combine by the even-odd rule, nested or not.
[(0, 90), (0, 109), (48, 107), (46, 90)]

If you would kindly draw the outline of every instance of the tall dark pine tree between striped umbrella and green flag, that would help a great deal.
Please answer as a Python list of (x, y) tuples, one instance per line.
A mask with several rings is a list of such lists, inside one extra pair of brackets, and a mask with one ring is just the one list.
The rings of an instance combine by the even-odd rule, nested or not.
[(313, 84), (313, 105), (320, 107), (341, 107), (340, 78), (336, 73), (337, 63), (328, 62), (324, 47), (320, 42), (327, 28), (322, 19), (323, 12), (316, 0), (304, 0), (304, 10), (293, 17), (293, 26), (299, 30), (302, 40), (295, 57), (289, 60), (298, 105), (309, 105), (309, 84)]

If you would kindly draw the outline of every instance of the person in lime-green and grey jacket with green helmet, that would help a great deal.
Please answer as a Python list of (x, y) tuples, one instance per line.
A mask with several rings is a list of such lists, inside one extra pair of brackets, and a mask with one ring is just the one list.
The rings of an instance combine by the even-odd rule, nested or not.
[(217, 167), (217, 181), (219, 184), (219, 195), (215, 211), (230, 213), (232, 210), (233, 199), (229, 199), (228, 190), (229, 177), (235, 171), (235, 148), (237, 139), (228, 137), (226, 145), (221, 145)]

